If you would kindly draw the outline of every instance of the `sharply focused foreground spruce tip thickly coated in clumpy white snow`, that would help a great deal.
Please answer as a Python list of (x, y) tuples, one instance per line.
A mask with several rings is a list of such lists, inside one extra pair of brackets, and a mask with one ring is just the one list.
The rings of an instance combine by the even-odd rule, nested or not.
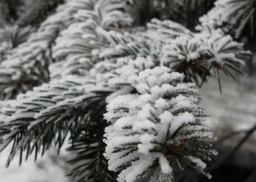
[[(209, 113), (197, 105), (198, 90), (192, 83), (178, 83), (183, 77), (167, 67), (145, 69), (128, 78), (137, 92), (109, 100), (104, 118), (112, 125), (105, 129), (104, 156), (108, 169), (120, 172), (119, 182), (139, 181), (149, 170), (155, 171), (150, 181), (170, 181), (170, 158), (190, 149), (186, 141), (214, 139), (202, 123)], [(186, 159), (205, 174), (200, 159)]]

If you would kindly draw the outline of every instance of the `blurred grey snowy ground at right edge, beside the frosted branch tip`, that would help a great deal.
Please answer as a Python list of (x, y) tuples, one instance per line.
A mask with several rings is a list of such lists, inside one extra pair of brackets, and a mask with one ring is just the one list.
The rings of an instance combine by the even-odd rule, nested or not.
[(218, 80), (210, 78), (200, 90), (201, 104), (212, 114), (207, 124), (216, 130), (229, 128), (237, 131), (252, 127), (256, 123), (256, 79), (252, 78), (250, 83), (236, 83), (222, 75), (221, 88), (222, 95)]

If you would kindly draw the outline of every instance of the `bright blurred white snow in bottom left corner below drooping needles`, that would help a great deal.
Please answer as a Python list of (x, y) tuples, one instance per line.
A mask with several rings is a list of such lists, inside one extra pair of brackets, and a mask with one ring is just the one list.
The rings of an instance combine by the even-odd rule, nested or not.
[[(64, 145), (67, 146), (67, 142)], [(0, 153), (0, 182), (69, 182), (65, 176), (66, 164), (63, 160), (68, 153), (61, 150), (57, 156), (56, 151), (50, 150), (45, 153), (43, 158), (38, 155), (37, 162), (34, 162), (34, 155), (31, 155), (19, 167), (19, 152), (16, 154), (8, 169), (5, 168), (6, 160), (11, 150), (10, 144), (7, 149)], [(55, 157), (55, 160), (52, 160)], [(57, 160), (56, 160), (57, 159)]]

